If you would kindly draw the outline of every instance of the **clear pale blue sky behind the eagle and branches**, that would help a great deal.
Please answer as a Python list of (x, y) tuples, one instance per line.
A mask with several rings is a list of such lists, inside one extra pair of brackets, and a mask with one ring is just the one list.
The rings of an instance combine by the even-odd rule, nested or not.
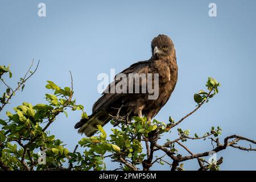
[[(38, 4), (46, 3), (46, 17), (38, 16)], [(217, 17), (209, 17), (209, 3), (217, 5)], [(44, 103), (46, 80), (70, 85), (73, 73), (75, 98), (91, 113), (99, 73), (122, 71), (151, 56), (151, 39), (170, 36), (175, 44), (179, 78), (171, 99), (156, 115), (168, 122), (169, 115), (180, 119), (195, 108), (193, 94), (204, 88), (208, 76), (221, 82), (220, 93), (180, 127), (203, 135), (211, 126), (223, 129), (222, 137), (238, 134), (256, 138), (255, 67), (256, 1), (0, 1), (0, 64), (11, 65), (10, 85), (26, 73), (33, 57), (40, 67), (22, 93), (11, 101)], [(1, 91), (3, 91), (3, 84)], [(73, 126), (80, 112), (57, 117), (51, 134), (68, 144), (70, 150), (81, 139)], [(4, 118), (4, 113), (1, 113)], [(111, 125), (105, 127), (110, 131)], [(176, 131), (168, 135), (174, 139)], [(165, 138), (164, 138), (165, 139)], [(162, 142), (164, 142), (164, 139)], [(189, 142), (191, 151), (212, 149), (210, 141)], [(246, 146), (248, 147), (248, 146)], [(185, 154), (185, 153), (184, 153)], [(229, 148), (222, 170), (256, 169), (255, 152)], [(113, 163), (108, 169), (114, 169)], [(185, 169), (197, 169), (195, 161)], [(152, 169), (169, 169), (159, 164)]]

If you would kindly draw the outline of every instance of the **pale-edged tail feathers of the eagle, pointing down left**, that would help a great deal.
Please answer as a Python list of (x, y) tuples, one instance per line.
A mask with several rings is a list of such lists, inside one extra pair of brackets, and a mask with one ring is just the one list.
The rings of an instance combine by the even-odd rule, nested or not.
[(84, 133), (86, 137), (92, 137), (98, 128), (97, 125), (104, 126), (106, 123), (110, 121), (110, 117), (104, 111), (100, 111), (96, 114), (92, 114), (87, 119), (81, 119), (75, 125), (75, 129), (79, 129), (78, 132), (80, 134)]

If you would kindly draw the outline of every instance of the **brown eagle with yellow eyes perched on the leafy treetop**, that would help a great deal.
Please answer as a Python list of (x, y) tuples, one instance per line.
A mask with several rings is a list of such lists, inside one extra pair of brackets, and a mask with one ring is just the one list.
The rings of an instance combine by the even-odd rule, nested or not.
[[(102, 96), (94, 103), (92, 114), (88, 118), (82, 118), (76, 123), (75, 129), (79, 129), (79, 133), (84, 133), (87, 137), (92, 137), (98, 130), (97, 125), (103, 127), (111, 120), (117, 121), (118, 118), (125, 118), (129, 122), (133, 116), (144, 116), (150, 122), (158, 114), (175, 89), (178, 67), (174, 43), (167, 35), (160, 34), (152, 39), (151, 51), (152, 56), (149, 60), (134, 63), (129, 68), (118, 73), (115, 77), (119, 74), (127, 75), (127, 77), (133, 73), (145, 75), (150, 73), (157, 74), (158, 84), (154, 86), (158, 86), (158, 97), (149, 99), (152, 93), (148, 89), (143, 93), (109, 92), (121, 80), (114, 79), (102, 93)], [(143, 83), (143, 81), (146, 81), (146, 83)], [(147, 84), (147, 82), (148, 78), (146, 80), (139, 80), (139, 89), (142, 90), (142, 85)], [(152, 78), (151, 82), (155, 84), (155, 77)], [(127, 89), (129, 89), (129, 86), (134, 86), (132, 88), (134, 91), (134, 84), (126, 86)]]

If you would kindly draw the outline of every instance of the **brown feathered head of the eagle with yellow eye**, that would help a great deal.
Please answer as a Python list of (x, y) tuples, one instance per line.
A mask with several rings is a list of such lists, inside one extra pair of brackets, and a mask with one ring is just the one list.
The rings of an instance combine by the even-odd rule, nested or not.
[(175, 49), (174, 43), (171, 38), (166, 35), (160, 34), (156, 36), (151, 42), (152, 56), (156, 57), (168, 57), (171, 56)]

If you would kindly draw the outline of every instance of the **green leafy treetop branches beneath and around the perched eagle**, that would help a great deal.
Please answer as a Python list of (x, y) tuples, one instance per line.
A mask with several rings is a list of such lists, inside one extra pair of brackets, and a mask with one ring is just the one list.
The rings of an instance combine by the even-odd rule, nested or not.
[[(9, 73), (11, 77), (9, 67), (0, 67), (0, 77), (4, 73)], [(35, 71), (31, 72), (31, 75), (34, 73)], [(29, 76), (21, 78), (18, 82), (18, 88), (24, 86), (27, 78)], [(2, 82), (5, 84), (3, 80)], [(180, 122), (199, 109), (204, 102), (208, 102), (210, 98), (218, 93), (220, 83), (215, 79), (208, 78), (206, 86), (209, 92), (200, 90), (199, 93), (195, 94), (196, 109), (181, 118), (180, 121), (175, 122), (170, 117), (168, 123), (156, 119), (151, 122), (147, 121), (145, 117), (135, 116), (131, 123), (121, 122), (117, 127), (113, 127), (110, 135), (107, 135), (102, 126), (98, 125), (96, 136), (82, 138), (73, 152), (69, 151), (60, 139), (56, 139), (54, 135), (47, 131), (49, 125), (56, 121), (57, 115), (64, 113), (68, 117), (68, 109), (72, 111), (80, 110), (82, 118), (88, 117), (84, 111), (84, 106), (77, 105), (76, 100), (72, 98), (73, 82), (71, 81), (71, 83), (71, 88), (61, 88), (54, 82), (47, 81), (46, 88), (52, 90), (52, 92), (46, 94), (46, 104), (33, 106), (30, 103), (23, 102), (22, 105), (14, 107), (14, 111), (6, 112), (7, 119), (0, 119), (0, 170), (106, 170), (106, 158), (118, 162), (120, 169), (123, 170), (137, 170), (141, 164), (144, 170), (148, 170), (154, 163), (159, 163), (167, 164), (172, 169), (181, 171), (184, 170), (184, 163), (180, 165), (179, 163), (194, 158), (199, 160), (201, 169), (219, 169), (221, 161), (209, 163), (202, 158), (205, 155), (198, 154), (192, 157), (188, 156), (188, 159), (182, 158), (176, 144), (179, 144), (190, 154), (191, 152), (187, 147), (181, 143), (188, 140), (205, 140), (212, 136), (212, 140), (219, 144), (217, 137), (221, 134), (220, 127), (217, 127), (217, 129), (212, 127), (202, 137), (197, 134), (191, 137), (189, 130), (178, 128), (179, 138), (173, 141), (167, 139), (163, 146), (157, 143), (162, 135), (168, 135), (173, 127), (179, 125)], [(7, 84), (5, 85), (7, 86)], [(0, 111), (6, 104), (9, 104), (10, 96), (13, 96), (18, 89), (14, 89), (15, 92), (11, 92), (11, 90), (13, 89), (7, 86), (6, 92), (0, 98), (2, 103)], [(115, 125), (115, 121), (111, 123)], [(143, 142), (145, 145), (143, 145)], [(76, 151), (79, 146), (84, 151), (83, 154)], [(146, 149), (146, 153), (143, 148)], [(216, 151), (222, 149), (224, 147), (219, 147)], [(164, 155), (159, 158), (156, 156), (153, 161), (153, 154), (156, 150), (162, 150)], [(44, 164), (40, 162), (39, 151), (46, 153)], [(172, 164), (164, 160), (166, 155), (174, 161)], [(205, 164), (207, 165), (205, 166)]]

